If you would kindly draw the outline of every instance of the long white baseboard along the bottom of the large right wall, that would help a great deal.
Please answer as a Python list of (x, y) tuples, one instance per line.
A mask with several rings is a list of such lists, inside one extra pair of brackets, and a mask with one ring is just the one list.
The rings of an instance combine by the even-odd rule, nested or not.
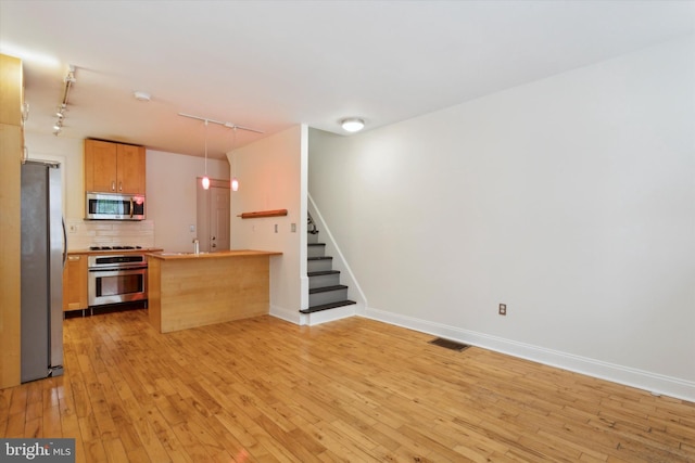
[(647, 390), (654, 395), (664, 395), (695, 402), (695, 383), (652, 373), (630, 366), (623, 366), (601, 360), (590, 359), (558, 350), (546, 349), (511, 339), (491, 336), (484, 333), (463, 330), (412, 317), (366, 308), (359, 317), (403, 326), (409, 330), (432, 334), (464, 344), (482, 347), (513, 357), (569, 370), (587, 376), (610, 381), (624, 386)]

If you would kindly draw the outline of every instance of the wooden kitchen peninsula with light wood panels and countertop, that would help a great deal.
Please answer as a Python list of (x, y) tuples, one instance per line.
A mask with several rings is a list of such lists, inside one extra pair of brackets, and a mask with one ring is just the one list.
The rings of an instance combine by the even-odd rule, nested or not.
[(169, 333), (269, 313), (270, 257), (281, 254), (148, 254), (150, 323)]

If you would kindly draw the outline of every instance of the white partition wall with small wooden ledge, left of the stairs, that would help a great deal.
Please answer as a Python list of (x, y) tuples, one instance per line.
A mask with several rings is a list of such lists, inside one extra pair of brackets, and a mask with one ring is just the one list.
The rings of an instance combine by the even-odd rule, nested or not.
[[(296, 126), (227, 154), (240, 184), (239, 191), (231, 193), (231, 248), (282, 253), (270, 258), (270, 313), (295, 323), (305, 304), (302, 295), (308, 294), (306, 138), (306, 126)], [(287, 209), (288, 215), (238, 217), (276, 209)]]

